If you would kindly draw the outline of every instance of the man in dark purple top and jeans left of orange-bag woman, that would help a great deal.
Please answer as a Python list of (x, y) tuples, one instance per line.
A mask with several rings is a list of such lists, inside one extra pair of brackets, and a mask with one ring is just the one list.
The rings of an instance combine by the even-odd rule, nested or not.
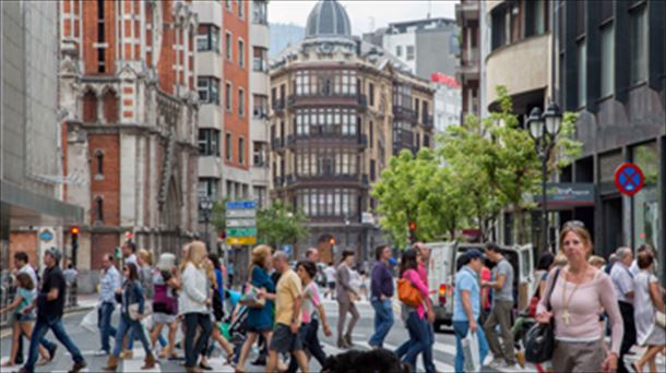
[(372, 280), (370, 282), (370, 301), (374, 309), (374, 334), (370, 337), (368, 345), (372, 348), (381, 348), (384, 338), (393, 326), (393, 277), (389, 269), (391, 249), (380, 245), (374, 249), (377, 263), (372, 267)]

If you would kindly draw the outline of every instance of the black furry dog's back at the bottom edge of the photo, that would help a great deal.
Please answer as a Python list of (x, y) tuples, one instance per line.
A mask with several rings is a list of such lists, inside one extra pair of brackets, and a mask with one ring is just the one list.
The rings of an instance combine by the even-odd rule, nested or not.
[(323, 373), (409, 373), (395, 353), (377, 349), (371, 351), (350, 350), (326, 359)]

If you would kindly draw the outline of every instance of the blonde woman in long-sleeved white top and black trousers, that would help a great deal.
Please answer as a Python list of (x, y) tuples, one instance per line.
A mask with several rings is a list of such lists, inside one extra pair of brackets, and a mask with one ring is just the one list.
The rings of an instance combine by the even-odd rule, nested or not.
[[(197, 360), (205, 348), (213, 326), (209, 305), (211, 299), (206, 291), (205, 272), (206, 249), (201, 241), (190, 244), (188, 255), (181, 266), (182, 292), (179, 301), (180, 315), (183, 315), (185, 335), (185, 368), (188, 372), (198, 372)], [(194, 341), (198, 329), (199, 338)]]

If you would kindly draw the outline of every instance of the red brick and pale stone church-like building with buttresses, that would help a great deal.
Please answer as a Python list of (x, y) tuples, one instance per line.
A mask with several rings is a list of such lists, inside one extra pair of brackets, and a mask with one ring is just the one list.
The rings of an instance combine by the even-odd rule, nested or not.
[(59, 8), (63, 164), (79, 181), (66, 198), (87, 213), (79, 266), (98, 268), (128, 233), (156, 255), (179, 252), (197, 229), (192, 1)]

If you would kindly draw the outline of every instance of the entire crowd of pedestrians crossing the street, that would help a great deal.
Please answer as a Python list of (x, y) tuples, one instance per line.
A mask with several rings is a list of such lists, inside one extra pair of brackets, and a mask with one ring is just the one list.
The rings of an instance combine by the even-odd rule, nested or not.
[[(514, 306), (516, 274), (504, 252), (495, 243), (486, 243), (484, 250), (462, 254), (453, 289), (456, 372), (467, 370), (465, 342), (471, 334), (478, 341), (481, 364), (491, 353), (489, 366), (524, 365), (523, 336), (538, 324), (554, 325), (555, 336), (552, 359), (536, 364), (539, 371), (657, 371), (656, 357), (666, 345), (657, 314), (666, 310), (664, 289), (656, 277), (655, 251), (643, 245), (634, 257), (630, 248), (619, 248), (606, 263), (592, 255), (590, 233), (575, 222), (561, 229), (559, 248), (557, 254), (544, 253), (539, 258), (534, 294), (527, 310), (520, 314)], [(265, 364), (266, 372), (308, 372), (310, 358), (326, 366), (336, 361), (328, 359), (319, 340), (320, 328), (325, 336), (333, 335), (322, 304), (326, 296), (337, 303), (337, 347), (354, 347), (352, 336), (360, 317), (357, 302), (361, 299), (361, 285), (354, 284), (355, 269), (364, 269), (356, 266), (353, 251), (343, 251), (337, 265), (329, 263), (320, 269), (317, 249), (290, 264), (286, 253), (258, 245), (251, 252), (247, 278), (236, 277), (239, 292), (231, 289), (235, 277), (230, 265), (225, 268), (201, 241), (182, 248), (180, 263), (177, 254), (164, 253), (154, 264), (152, 252), (138, 251), (131, 241), (122, 245), (121, 254), (121, 258), (105, 254), (102, 260), (95, 312), (100, 338), (97, 356), (108, 357), (106, 371), (116, 371), (122, 359), (132, 358), (135, 339), (145, 352), (142, 370), (155, 368), (162, 359), (183, 359), (181, 365), (187, 372), (213, 370), (209, 358), (218, 346), (226, 364), (246, 372), (246, 360), (255, 344), (260, 354), (254, 363)], [(22, 339), (29, 340), (27, 360), (20, 372), (34, 372), (36, 365), (53, 359), (58, 346), (44, 337), (49, 329), (70, 352), (74, 361), (71, 372), (86, 366), (61, 321), (67, 286), (61, 257), (57, 249), (45, 252), (46, 269), (38, 281), (27, 255), (14, 255), (16, 297), (0, 313), (12, 313), (14, 322), (7, 365), (22, 363)], [(437, 290), (428, 284), (428, 269), (433, 265), (430, 250), (420, 242), (404, 250), (397, 276), (394, 263), (389, 245), (376, 248), (368, 294), (374, 330), (368, 345), (378, 356), (390, 353), (391, 359), (400, 359), (411, 371), (416, 371), (420, 356), (425, 371), (435, 372), (431, 296)], [(323, 278), (323, 292), (317, 285), (318, 276)], [(397, 320), (396, 298), (401, 305), (399, 322), (407, 330), (408, 340), (394, 351), (385, 351), (384, 340)], [(231, 305), (228, 314), (227, 301)], [(119, 314), (117, 323), (115, 313)], [(229, 340), (229, 330), (223, 327), (225, 318), (240, 321), (240, 340)], [(629, 364), (626, 357), (635, 345), (645, 350)], [(179, 357), (177, 349), (185, 356)]]

